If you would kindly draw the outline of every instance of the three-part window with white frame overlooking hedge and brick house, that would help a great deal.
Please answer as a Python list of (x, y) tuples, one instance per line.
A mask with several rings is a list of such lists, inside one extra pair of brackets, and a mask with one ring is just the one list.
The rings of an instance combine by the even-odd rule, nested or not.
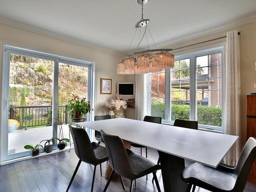
[(222, 129), (223, 46), (175, 55), (173, 69), (149, 74), (148, 115), (164, 122), (197, 120), (199, 127)]

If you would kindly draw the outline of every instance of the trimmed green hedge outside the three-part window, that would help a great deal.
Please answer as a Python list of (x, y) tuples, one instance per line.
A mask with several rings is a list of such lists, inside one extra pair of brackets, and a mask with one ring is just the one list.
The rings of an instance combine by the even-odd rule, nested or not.
[[(151, 115), (165, 118), (164, 103), (152, 103)], [(221, 107), (220, 106), (197, 106), (197, 120), (199, 124), (221, 126)], [(172, 104), (172, 120), (189, 120), (189, 105)]]

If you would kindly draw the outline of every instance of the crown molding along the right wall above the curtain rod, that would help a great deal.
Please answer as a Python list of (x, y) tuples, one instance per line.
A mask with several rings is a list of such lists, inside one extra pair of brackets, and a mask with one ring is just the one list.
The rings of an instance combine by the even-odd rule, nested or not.
[(212, 35), (218, 32), (225, 32), (234, 28), (238, 28), (247, 24), (251, 24), (251, 23), (255, 23), (256, 22), (256, 13), (251, 13), (251, 14), (246, 14), (244, 16), (240, 16), (236, 19), (232, 19), (230, 20), (230, 22), (226, 22), (220, 25), (217, 25), (215, 27), (212, 28), (208, 28), (208, 29), (202, 29), (200, 31), (195, 31), (193, 34), (189, 33), (189, 34), (185, 34), (185, 35), (181, 35), (179, 37), (175, 37), (172, 39), (169, 39), (165, 42), (159, 43), (157, 44), (158, 48), (166, 48), (166, 47), (170, 47), (173, 46), (175, 44), (179, 44), (185, 41), (189, 41), (189, 40), (193, 40), (193, 39), (197, 39), (200, 37), (204, 37), (207, 35)]

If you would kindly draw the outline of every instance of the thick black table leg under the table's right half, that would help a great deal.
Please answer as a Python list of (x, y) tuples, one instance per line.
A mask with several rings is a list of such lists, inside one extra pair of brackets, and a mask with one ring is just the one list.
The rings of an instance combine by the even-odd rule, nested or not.
[(184, 159), (158, 151), (163, 186), (165, 192), (182, 192), (186, 191), (187, 183), (180, 178), (182, 170), (185, 168)]

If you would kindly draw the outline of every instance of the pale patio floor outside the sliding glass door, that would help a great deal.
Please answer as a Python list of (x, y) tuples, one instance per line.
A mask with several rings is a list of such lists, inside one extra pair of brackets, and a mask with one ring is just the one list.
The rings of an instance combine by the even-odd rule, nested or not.
[[(63, 124), (63, 137), (69, 138), (69, 125)], [(52, 126), (30, 128), (28, 130), (15, 130), (8, 134), (8, 150), (11, 153), (27, 151), (24, 146), (27, 144), (38, 144), (41, 140), (52, 138)], [(58, 127), (59, 133), (59, 127)], [(71, 143), (73, 143), (71, 136)], [(68, 143), (69, 144), (69, 143)]]

